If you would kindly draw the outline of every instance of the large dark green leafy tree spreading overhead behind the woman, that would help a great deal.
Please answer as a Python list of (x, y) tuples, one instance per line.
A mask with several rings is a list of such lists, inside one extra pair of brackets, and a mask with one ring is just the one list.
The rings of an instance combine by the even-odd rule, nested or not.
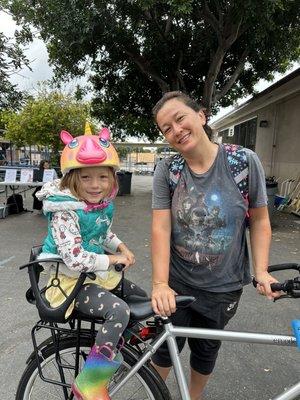
[(297, 0), (4, 2), (40, 31), (58, 77), (90, 68), (93, 113), (120, 138), (157, 136), (151, 108), (165, 91), (211, 113), (299, 59)]

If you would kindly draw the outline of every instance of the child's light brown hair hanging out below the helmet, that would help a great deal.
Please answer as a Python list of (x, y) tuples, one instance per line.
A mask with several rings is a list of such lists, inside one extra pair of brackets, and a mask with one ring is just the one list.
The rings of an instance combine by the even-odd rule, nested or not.
[[(118, 178), (112, 167), (103, 167), (103, 168), (107, 168), (107, 170), (108, 170), (109, 187), (107, 189), (107, 192), (104, 193), (104, 197), (108, 198), (113, 193), (117, 193), (117, 191), (119, 189)], [(73, 194), (73, 196), (77, 197), (78, 199), (80, 199), (79, 174), (80, 174), (80, 168), (72, 169), (66, 175), (64, 175), (60, 181), (60, 189), (61, 190), (69, 189), (70, 192)]]

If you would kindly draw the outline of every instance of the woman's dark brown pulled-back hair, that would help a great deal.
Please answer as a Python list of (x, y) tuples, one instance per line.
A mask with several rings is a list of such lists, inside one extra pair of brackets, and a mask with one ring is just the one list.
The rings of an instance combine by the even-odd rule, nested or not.
[[(152, 115), (154, 118), (154, 121), (157, 123), (157, 114), (158, 112), (162, 109), (162, 107), (169, 101), (176, 99), (178, 101), (181, 101), (183, 104), (185, 104), (187, 107), (190, 107), (192, 110), (198, 112), (198, 111), (203, 111), (204, 115), (207, 118), (206, 114), (206, 108), (203, 106), (203, 104), (198, 103), (196, 100), (194, 100), (192, 97), (188, 96), (186, 93), (181, 92), (180, 90), (175, 90), (173, 92), (166, 92), (161, 99), (158, 100), (158, 102), (155, 104), (155, 106), (152, 108)], [(207, 125), (207, 123), (203, 126), (203, 129), (209, 139), (212, 138), (212, 129)]]

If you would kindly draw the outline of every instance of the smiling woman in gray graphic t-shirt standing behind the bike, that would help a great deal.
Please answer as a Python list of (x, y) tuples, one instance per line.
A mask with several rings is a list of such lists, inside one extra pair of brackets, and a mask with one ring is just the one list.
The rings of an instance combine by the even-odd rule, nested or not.
[[(270, 289), (270, 283), (276, 280), (267, 272), (271, 228), (264, 172), (256, 154), (244, 149), (250, 171), (248, 206), (233, 180), (224, 146), (211, 142), (206, 134), (202, 106), (184, 93), (168, 92), (155, 105), (153, 114), (165, 139), (185, 163), (173, 193), (171, 161), (162, 160), (154, 174), (152, 306), (157, 314), (170, 316), (175, 325), (223, 329), (236, 312), (243, 285), (251, 280), (245, 237), (247, 213), (257, 290), (269, 299), (278, 296)], [(202, 216), (197, 227), (186, 227), (180, 219), (182, 211), (178, 210), (187, 197)], [(193, 210), (189, 212), (192, 218)], [(193, 295), (197, 300), (188, 310), (176, 311), (176, 294)], [(220, 342), (188, 342), (190, 396), (199, 400)], [(181, 351), (185, 339), (178, 338), (177, 343)], [(166, 379), (171, 367), (167, 346), (161, 347), (152, 361)]]

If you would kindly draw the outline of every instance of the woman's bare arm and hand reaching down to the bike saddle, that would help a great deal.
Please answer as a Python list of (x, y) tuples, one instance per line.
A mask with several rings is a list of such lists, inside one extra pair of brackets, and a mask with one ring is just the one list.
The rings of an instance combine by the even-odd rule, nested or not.
[(152, 307), (156, 314), (171, 315), (176, 310), (175, 292), (169, 287), (171, 211), (152, 214)]

